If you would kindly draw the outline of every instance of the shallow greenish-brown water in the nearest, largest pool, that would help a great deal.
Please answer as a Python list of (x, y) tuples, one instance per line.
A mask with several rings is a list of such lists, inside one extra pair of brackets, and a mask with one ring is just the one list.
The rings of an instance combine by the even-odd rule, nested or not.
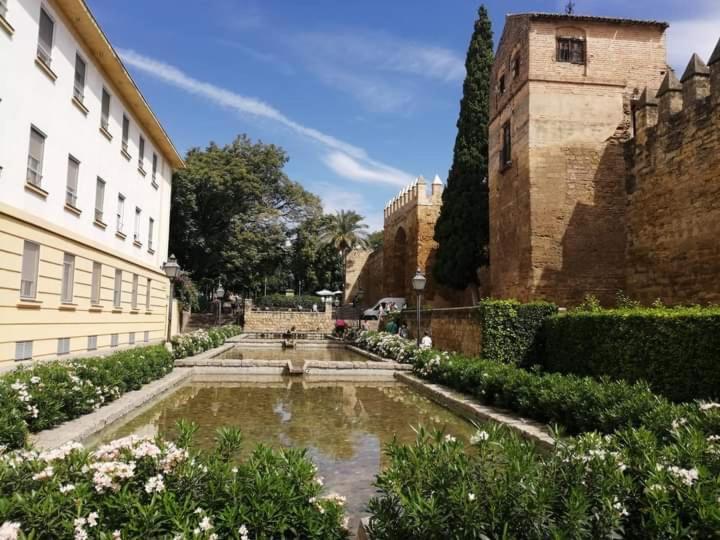
[(308, 449), (326, 492), (347, 497), (351, 530), (375, 493), (386, 466), (383, 447), (393, 436), (415, 440), (413, 426), (438, 428), (467, 441), (473, 426), (398, 382), (312, 382), (286, 377), (266, 382), (193, 382), (91, 444), (130, 434), (173, 436), (181, 418), (199, 425), (195, 443), (213, 446), (215, 430), (238, 426), (244, 451), (257, 443)]

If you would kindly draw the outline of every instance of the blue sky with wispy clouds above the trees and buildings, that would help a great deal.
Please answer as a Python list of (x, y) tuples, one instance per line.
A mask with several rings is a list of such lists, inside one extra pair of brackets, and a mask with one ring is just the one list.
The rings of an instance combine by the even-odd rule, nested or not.
[[(326, 211), (356, 210), (371, 230), (415, 177), (447, 177), (477, 0), (87, 1), (182, 155), (241, 133), (277, 144), (288, 176)], [(565, 3), (485, 5), (497, 43), (507, 13)], [(669, 22), (680, 74), (720, 38), (720, 0), (577, 0), (575, 10)]]

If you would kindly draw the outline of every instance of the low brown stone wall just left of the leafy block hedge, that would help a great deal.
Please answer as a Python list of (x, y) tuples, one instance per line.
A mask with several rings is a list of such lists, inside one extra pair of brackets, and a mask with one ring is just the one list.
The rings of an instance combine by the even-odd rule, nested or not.
[[(410, 335), (416, 334), (416, 312), (405, 313)], [(428, 309), (420, 312), (422, 332), (429, 331), (433, 346), (444, 351), (454, 351), (468, 356), (480, 356), (482, 351), (482, 327), (473, 307)]]

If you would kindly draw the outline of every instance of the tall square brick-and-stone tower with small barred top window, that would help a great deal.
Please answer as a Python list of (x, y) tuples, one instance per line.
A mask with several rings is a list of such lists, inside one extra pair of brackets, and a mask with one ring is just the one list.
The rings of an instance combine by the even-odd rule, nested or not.
[[(676, 100), (666, 28), (605, 17), (507, 17), (490, 96), (493, 296), (572, 305), (586, 293), (609, 300), (624, 289), (624, 143), (645, 87), (660, 88), (667, 75), (665, 99)], [(663, 110), (652, 93), (642, 105), (646, 123)]]

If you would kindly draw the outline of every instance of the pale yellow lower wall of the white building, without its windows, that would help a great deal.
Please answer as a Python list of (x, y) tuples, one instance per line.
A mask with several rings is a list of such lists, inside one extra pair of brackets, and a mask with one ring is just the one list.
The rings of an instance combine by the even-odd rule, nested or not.
[[(36, 302), (20, 299), (20, 274), (24, 240), (40, 244)], [(63, 254), (75, 255), (73, 304), (62, 304)], [(102, 264), (100, 307), (90, 305), (93, 262)], [(115, 269), (123, 271), (122, 307), (113, 306)], [(132, 280), (138, 274), (137, 310), (132, 310)], [(147, 278), (152, 280), (150, 309), (145, 309)], [(102, 246), (71, 238), (39, 219), (0, 207), (0, 362), (15, 358), (17, 341), (33, 341), (33, 359), (57, 356), (58, 338), (70, 338), (70, 355), (87, 352), (88, 336), (97, 335), (97, 350), (110, 348), (111, 334), (119, 334), (118, 345), (142, 343), (165, 337), (168, 280), (142, 263), (120, 257)]]

